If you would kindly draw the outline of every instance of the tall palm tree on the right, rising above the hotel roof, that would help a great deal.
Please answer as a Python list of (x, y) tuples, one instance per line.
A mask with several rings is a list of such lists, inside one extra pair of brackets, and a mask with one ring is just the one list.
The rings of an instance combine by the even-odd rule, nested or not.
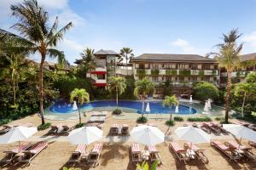
[(223, 35), (224, 43), (218, 44), (219, 54), (216, 59), (218, 60), (218, 65), (223, 67), (227, 71), (227, 93), (225, 98), (225, 122), (229, 121), (229, 111), (230, 111), (230, 87), (231, 87), (231, 73), (240, 66), (240, 52), (242, 49), (242, 44), (237, 44), (237, 39), (241, 37), (237, 29), (230, 31), (228, 35)]

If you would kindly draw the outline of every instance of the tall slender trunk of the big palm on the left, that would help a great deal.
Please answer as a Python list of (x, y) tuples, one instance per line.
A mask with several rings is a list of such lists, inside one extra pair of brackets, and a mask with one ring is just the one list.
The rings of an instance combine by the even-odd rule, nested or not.
[(40, 116), (41, 116), (43, 125), (44, 125), (44, 89), (43, 89), (44, 60), (45, 60), (45, 54), (41, 54), (41, 63), (39, 67), (39, 102), (40, 102)]

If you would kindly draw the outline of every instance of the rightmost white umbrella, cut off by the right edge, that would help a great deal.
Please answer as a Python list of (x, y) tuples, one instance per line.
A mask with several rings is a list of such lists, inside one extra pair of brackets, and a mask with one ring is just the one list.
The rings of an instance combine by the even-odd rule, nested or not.
[(223, 127), (238, 138), (256, 142), (256, 132), (250, 128), (236, 124), (224, 124)]

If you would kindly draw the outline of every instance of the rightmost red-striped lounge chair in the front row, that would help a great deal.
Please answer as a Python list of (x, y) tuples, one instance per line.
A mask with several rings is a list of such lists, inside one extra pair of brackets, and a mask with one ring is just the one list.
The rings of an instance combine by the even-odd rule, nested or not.
[(256, 155), (253, 153), (252, 147), (237, 144), (237, 142), (234, 140), (227, 141), (225, 142), (225, 144), (228, 146), (232, 146), (233, 148), (236, 148), (236, 151), (242, 156), (246, 156), (248, 159), (256, 161)]

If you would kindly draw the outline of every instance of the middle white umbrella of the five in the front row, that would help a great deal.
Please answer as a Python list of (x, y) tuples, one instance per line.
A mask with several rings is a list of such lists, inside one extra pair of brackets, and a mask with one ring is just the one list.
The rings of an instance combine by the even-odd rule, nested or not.
[(140, 144), (160, 144), (165, 141), (165, 134), (157, 127), (142, 125), (131, 130), (131, 139)]

